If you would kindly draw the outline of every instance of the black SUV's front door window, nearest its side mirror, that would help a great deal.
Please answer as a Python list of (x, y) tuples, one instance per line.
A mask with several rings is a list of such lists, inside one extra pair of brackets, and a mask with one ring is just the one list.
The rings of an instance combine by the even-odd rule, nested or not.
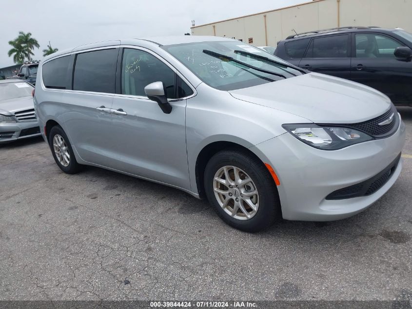
[(396, 58), (395, 49), (402, 44), (378, 34), (356, 34), (357, 58)]

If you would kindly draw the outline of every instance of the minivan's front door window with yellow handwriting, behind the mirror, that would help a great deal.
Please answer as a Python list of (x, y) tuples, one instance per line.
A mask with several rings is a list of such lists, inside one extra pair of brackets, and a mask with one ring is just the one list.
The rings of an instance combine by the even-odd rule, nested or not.
[(144, 87), (152, 82), (163, 82), (167, 97), (176, 99), (175, 81), (175, 72), (152, 54), (138, 49), (124, 49), (121, 64), (122, 94), (145, 97)]

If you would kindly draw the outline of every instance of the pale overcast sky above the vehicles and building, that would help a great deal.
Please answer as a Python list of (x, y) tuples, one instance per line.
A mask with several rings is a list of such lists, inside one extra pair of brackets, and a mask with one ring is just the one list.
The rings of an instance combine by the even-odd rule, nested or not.
[(40, 44), (64, 50), (98, 41), (183, 35), (196, 25), (268, 11), (307, 0), (1, 0), (0, 67), (19, 31), (31, 32)]

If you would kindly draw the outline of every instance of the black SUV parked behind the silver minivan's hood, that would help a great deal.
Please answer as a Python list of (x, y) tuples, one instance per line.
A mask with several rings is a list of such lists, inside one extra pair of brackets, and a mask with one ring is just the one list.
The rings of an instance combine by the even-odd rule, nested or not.
[(277, 44), (275, 56), (371, 86), (395, 105), (412, 106), (412, 34), (404, 30), (345, 27), (296, 34)]

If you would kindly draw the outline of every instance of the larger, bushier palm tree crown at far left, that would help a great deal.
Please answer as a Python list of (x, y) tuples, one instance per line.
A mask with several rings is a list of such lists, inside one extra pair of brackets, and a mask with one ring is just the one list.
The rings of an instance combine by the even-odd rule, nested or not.
[(23, 62), (24, 58), (31, 61), (31, 56), (34, 55), (33, 49), (35, 47), (40, 47), (39, 42), (35, 38), (32, 38), (32, 34), (30, 32), (24, 33), (23, 31), (19, 32), (19, 36), (16, 39), (9, 41), (9, 44), (13, 48), (9, 50), (8, 55), (9, 57), (14, 55), (13, 61), (15, 63)]

